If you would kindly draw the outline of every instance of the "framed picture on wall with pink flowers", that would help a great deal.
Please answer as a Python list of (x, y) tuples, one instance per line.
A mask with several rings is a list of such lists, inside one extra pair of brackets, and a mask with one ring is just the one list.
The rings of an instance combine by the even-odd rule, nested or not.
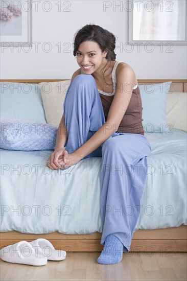
[(31, 0), (0, 0), (1, 46), (31, 44)]

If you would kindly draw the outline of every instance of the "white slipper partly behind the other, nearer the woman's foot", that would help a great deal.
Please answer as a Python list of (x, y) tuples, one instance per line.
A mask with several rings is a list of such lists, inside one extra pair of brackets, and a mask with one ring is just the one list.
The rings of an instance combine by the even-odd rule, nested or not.
[(49, 261), (62, 261), (65, 260), (66, 257), (66, 251), (62, 250), (55, 250), (54, 246), (51, 244), (50, 241), (38, 238), (32, 242), (30, 242), (33, 249), (36, 253), (41, 254)]

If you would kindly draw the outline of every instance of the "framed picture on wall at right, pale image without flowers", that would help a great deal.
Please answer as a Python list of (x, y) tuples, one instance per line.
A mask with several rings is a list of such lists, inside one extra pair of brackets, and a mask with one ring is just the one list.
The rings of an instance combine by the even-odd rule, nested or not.
[(128, 5), (129, 42), (187, 44), (185, 0), (131, 0)]

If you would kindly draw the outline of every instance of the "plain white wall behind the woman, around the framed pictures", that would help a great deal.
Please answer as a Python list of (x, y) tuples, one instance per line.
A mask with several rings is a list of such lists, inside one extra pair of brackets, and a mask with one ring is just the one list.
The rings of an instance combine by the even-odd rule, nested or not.
[[(42, 7), (49, 1), (37, 2), (38, 11), (36, 4), (32, 5), (32, 41), (40, 42), (38, 52), (35, 44), (29, 53), (28, 48), (21, 49), (20, 53), (17, 48), (1, 48), (1, 79), (70, 79), (79, 68), (73, 56), (73, 36), (86, 24), (100, 25), (118, 38), (116, 60), (130, 64), (137, 79), (186, 79), (185, 45), (172, 46), (172, 53), (167, 52), (168, 46), (163, 46), (161, 52), (158, 45), (154, 45), (153, 52), (145, 51), (144, 45), (139, 52), (136, 45), (132, 52), (124, 49), (128, 41), (128, 12), (120, 8), (114, 10), (114, 1), (110, 1), (111, 7), (106, 11), (103, 1), (61, 1), (58, 11), (60, 1), (51, 0), (50, 12), (44, 11), (49, 9), (48, 3)], [(45, 42), (52, 46), (49, 53), (42, 50), (42, 46), (48, 49)], [(56, 46), (59, 42), (60, 52)]]

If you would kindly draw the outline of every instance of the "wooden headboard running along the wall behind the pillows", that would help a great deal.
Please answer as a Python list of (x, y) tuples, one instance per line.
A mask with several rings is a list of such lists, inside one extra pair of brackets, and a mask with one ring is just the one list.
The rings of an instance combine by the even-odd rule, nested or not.
[[(41, 82), (58, 82), (58, 81), (65, 81), (65, 80), (70, 80), (70, 79), (2, 79), (0, 82), (15, 82), (15, 83), (41, 83)], [(138, 80), (138, 84), (156, 84), (156, 83), (164, 83), (164, 82), (169, 82), (172, 81), (171, 84), (171, 92), (186, 92), (187, 91), (187, 80), (184, 79), (179, 79), (179, 80), (174, 80), (174, 79), (157, 79), (157, 80), (152, 80), (152, 79), (140, 79)]]

